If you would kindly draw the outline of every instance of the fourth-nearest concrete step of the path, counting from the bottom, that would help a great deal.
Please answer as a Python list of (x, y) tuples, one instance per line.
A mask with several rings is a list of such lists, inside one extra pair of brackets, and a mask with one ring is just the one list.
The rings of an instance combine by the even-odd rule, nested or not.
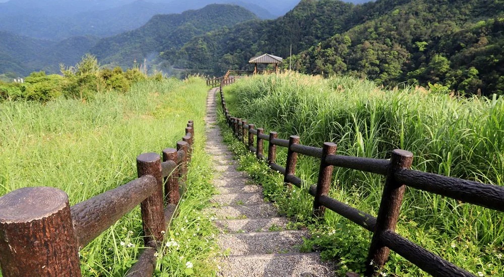
[(271, 203), (255, 205), (226, 205), (212, 207), (209, 214), (214, 214), (217, 219), (251, 219), (273, 218), (278, 216), (277, 208)]

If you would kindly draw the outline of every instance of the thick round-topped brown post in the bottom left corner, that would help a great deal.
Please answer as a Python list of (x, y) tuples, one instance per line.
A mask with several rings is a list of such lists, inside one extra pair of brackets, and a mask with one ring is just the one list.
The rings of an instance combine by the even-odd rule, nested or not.
[(81, 276), (64, 191), (25, 187), (0, 197), (0, 265), (4, 277)]

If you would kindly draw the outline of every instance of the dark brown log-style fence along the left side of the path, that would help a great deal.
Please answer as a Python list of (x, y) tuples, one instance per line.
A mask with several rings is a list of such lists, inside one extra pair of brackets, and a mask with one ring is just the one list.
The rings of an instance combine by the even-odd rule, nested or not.
[(191, 120), (177, 148), (163, 150), (163, 162), (159, 154), (142, 154), (138, 179), (73, 206), (64, 191), (51, 187), (26, 187), (0, 197), (3, 276), (81, 276), (79, 250), (138, 204), (146, 248), (127, 276), (152, 276), (154, 254), (183, 192), (193, 144)]

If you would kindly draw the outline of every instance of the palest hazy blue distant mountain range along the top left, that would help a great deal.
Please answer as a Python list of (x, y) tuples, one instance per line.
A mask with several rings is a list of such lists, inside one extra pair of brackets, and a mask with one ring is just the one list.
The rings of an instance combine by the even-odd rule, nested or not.
[(209, 4), (235, 4), (261, 19), (283, 15), (298, 0), (11, 0), (0, 3), (0, 30), (34, 38), (106, 37), (141, 27), (157, 14), (181, 13)]

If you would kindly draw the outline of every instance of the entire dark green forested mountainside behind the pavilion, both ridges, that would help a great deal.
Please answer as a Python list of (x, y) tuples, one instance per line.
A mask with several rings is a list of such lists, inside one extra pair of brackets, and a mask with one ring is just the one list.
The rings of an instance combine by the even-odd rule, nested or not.
[(284, 17), (194, 38), (165, 58), (220, 75), (247, 68), (259, 53), (288, 57), (292, 44), (293, 66), (301, 72), (504, 94), (503, 32), (502, 0), (379, 0), (358, 6), (302, 0)]

